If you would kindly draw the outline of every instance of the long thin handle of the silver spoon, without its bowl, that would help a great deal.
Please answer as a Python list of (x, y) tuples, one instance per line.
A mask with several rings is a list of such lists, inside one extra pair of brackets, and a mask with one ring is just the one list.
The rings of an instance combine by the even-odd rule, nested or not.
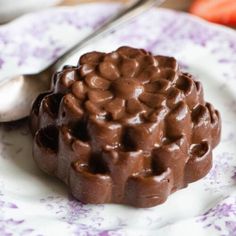
[(110, 18), (107, 22), (105, 22), (101, 27), (97, 30), (93, 31), (91, 34), (86, 36), (80, 42), (75, 44), (71, 49), (66, 51), (58, 60), (56, 60), (53, 65), (53, 69), (58, 69), (60, 66), (64, 64), (64, 62), (69, 59), (73, 54), (79, 51), (79, 49), (84, 46), (91, 44), (101, 38), (103, 38), (107, 33), (116, 29), (123, 23), (127, 23), (130, 19), (138, 16), (142, 12), (148, 10), (154, 5), (160, 5), (165, 0), (138, 0), (135, 1), (131, 6), (125, 8), (121, 12), (119, 12), (114, 17)]

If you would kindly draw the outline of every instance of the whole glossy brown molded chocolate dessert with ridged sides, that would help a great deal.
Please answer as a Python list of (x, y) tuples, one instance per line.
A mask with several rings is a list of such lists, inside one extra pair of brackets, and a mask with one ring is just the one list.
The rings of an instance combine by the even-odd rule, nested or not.
[(56, 73), (31, 129), (38, 166), (78, 200), (151, 207), (208, 173), (221, 121), (174, 58), (121, 47)]

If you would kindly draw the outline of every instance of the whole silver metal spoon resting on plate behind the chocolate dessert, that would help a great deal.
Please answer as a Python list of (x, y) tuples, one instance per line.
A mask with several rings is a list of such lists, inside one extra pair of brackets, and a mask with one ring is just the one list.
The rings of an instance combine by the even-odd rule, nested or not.
[(164, 0), (139, 0), (119, 12), (99, 29), (78, 42), (57, 61), (38, 74), (19, 75), (0, 83), (0, 122), (15, 121), (29, 115), (32, 101), (49, 89), (50, 77), (82, 47), (101, 39), (105, 34)]

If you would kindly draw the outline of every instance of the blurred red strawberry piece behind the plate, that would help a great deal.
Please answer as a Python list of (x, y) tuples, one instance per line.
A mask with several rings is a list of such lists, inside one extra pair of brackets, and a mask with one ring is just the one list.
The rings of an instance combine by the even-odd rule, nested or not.
[(190, 12), (211, 22), (236, 26), (236, 0), (195, 0)]

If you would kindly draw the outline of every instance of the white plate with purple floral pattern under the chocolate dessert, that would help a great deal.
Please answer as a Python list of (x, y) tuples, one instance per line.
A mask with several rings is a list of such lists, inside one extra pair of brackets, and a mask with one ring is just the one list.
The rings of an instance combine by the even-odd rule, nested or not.
[[(0, 79), (41, 70), (119, 7), (56, 8), (1, 26)], [(236, 235), (236, 33), (188, 14), (153, 9), (78, 54), (121, 45), (173, 55), (203, 82), (223, 120), (212, 170), (154, 208), (83, 205), (36, 167), (25, 123), (1, 125), (1, 236)]]

